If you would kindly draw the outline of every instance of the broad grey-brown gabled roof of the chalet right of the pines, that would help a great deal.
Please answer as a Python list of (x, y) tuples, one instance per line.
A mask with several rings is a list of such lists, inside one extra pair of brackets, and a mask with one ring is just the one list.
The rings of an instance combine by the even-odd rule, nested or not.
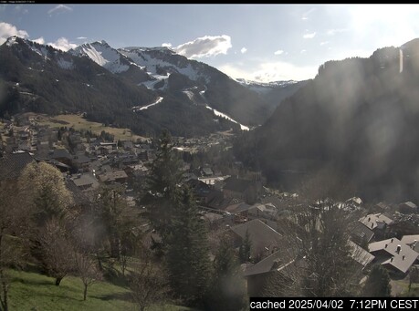
[(258, 219), (254, 219), (247, 223), (237, 224), (231, 227), (231, 230), (242, 239), (245, 239), (246, 232), (248, 232), (252, 244), (252, 252), (257, 252), (263, 248), (272, 251), (275, 247), (278, 247), (283, 240), (280, 233)]

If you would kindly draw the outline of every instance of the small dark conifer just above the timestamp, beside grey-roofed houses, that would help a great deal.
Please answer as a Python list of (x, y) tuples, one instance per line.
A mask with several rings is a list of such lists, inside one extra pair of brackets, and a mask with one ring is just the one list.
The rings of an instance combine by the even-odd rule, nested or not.
[(381, 264), (372, 266), (362, 294), (366, 297), (390, 297), (392, 285), (387, 270)]

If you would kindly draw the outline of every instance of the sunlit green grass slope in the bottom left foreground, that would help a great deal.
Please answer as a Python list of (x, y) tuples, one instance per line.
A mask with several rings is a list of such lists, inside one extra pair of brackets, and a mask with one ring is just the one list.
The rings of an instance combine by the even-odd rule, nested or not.
[[(55, 280), (34, 272), (9, 271), (12, 284), (9, 291), (9, 310), (136, 310), (130, 302), (128, 288), (98, 282), (89, 286), (83, 301), (83, 285), (75, 276), (66, 276), (59, 286)], [(193, 310), (183, 306), (152, 306), (147, 311)]]

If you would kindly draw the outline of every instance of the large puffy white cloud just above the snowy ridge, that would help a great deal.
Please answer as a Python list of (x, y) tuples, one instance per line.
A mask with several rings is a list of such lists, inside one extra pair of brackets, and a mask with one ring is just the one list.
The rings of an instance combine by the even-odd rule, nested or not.
[(194, 41), (175, 47), (174, 50), (184, 57), (199, 58), (227, 54), (228, 49), (231, 47), (230, 36), (201, 36), (194, 39)]

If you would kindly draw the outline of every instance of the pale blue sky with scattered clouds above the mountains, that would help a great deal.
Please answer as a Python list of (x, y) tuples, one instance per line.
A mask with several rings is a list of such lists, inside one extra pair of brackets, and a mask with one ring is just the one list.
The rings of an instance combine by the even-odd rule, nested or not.
[(232, 78), (315, 78), (320, 65), (419, 37), (419, 5), (0, 5), (0, 44), (171, 47)]

